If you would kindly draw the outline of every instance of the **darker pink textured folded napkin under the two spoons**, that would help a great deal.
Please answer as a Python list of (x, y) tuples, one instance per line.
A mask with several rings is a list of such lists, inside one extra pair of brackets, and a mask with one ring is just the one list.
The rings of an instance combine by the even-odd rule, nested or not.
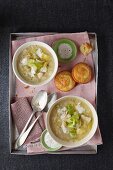
[[(19, 134), (23, 130), (30, 115), (32, 114), (30, 101), (31, 101), (31, 97), (30, 98), (19, 98), (17, 99), (16, 102), (11, 104), (13, 120), (14, 120), (14, 123), (17, 127)], [(32, 118), (31, 123), (35, 119), (36, 117), (34, 116)], [(44, 128), (45, 128), (45, 124), (43, 121), (43, 117), (40, 117), (39, 122), (37, 121), (37, 123), (34, 125), (34, 128), (31, 130), (28, 138), (25, 141), (25, 144), (36, 141), (40, 137)]]

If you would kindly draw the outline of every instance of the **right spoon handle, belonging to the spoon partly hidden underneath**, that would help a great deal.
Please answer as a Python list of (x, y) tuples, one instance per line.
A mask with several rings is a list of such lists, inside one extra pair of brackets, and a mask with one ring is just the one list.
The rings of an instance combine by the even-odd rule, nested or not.
[(31, 132), (32, 128), (34, 127), (35, 123), (37, 122), (37, 120), (40, 118), (41, 115), (42, 115), (42, 113), (39, 112), (38, 117), (35, 119), (35, 121), (29, 126), (29, 128), (26, 130), (26, 132), (19, 139), (18, 146), (21, 146), (25, 142), (25, 140), (27, 139), (29, 133)]

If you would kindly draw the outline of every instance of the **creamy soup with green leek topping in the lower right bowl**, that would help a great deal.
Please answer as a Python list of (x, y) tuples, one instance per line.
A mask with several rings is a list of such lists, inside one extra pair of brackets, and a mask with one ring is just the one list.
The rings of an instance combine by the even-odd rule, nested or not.
[(93, 117), (90, 108), (79, 99), (64, 99), (51, 111), (50, 127), (64, 141), (79, 141), (91, 130)]

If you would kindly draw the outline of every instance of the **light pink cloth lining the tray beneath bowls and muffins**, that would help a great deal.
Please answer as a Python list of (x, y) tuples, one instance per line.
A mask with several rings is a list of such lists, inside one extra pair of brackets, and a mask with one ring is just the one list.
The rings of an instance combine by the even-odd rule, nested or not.
[[(48, 45), (51, 46), (52, 43), (55, 40), (60, 39), (60, 38), (69, 38), (69, 39), (75, 41), (75, 43), (78, 46), (78, 55), (77, 55), (76, 60), (72, 61), (69, 64), (59, 64), (58, 71), (62, 71), (62, 70), (71, 71), (75, 64), (84, 61), (84, 56), (80, 53), (79, 46), (82, 43), (90, 42), (87, 32), (44, 35), (44, 36), (37, 36), (37, 37), (32, 37), (32, 38), (24, 38), (24, 39), (21, 39), (21, 40), (15, 40), (15, 41), (12, 41), (12, 56), (15, 53), (15, 51), (17, 50), (17, 48), (25, 42), (42, 41), (42, 42), (45, 42), (45, 43), (47, 43)], [(87, 64), (89, 64), (94, 70), (94, 63), (93, 63), (92, 54), (89, 54), (87, 56), (85, 62)], [(85, 99), (87, 99), (89, 102), (91, 102), (95, 106), (95, 97), (96, 97), (95, 96), (95, 94), (96, 94), (95, 93), (95, 91), (96, 91), (96, 89), (95, 89), (95, 76), (93, 77), (91, 82), (89, 82), (87, 84), (78, 84), (75, 88), (73, 88), (69, 92), (59, 91), (55, 87), (54, 80), (52, 80), (47, 85), (34, 88), (34, 87), (25, 86), (18, 79), (16, 79), (16, 89), (15, 90), (16, 90), (16, 96), (18, 96), (18, 97), (34, 96), (34, 94), (37, 93), (40, 90), (46, 90), (48, 93), (57, 92), (58, 98), (65, 96), (65, 95), (77, 95), (77, 96), (80, 96), (80, 97), (84, 97)], [(23, 115), (23, 117), (24, 117), (24, 115)], [(15, 118), (15, 121), (16, 121), (16, 118)], [(35, 133), (34, 133), (34, 135), (35, 135)], [(96, 144), (102, 143), (102, 138), (101, 138), (101, 134), (100, 134), (99, 129), (97, 130), (94, 137), (89, 141), (89, 143), (90, 143), (90, 145), (91, 144), (96, 145)], [(33, 147), (33, 145), (34, 146), (37, 145), (37, 147)], [(40, 144), (37, 143), (36, 145), (35, 144), (32, 144), (32, 145), (29, 144), (28, 147), (27, 147), (27, 152), (28, 153), (42, 152), (43, 148), (40, 146)]]

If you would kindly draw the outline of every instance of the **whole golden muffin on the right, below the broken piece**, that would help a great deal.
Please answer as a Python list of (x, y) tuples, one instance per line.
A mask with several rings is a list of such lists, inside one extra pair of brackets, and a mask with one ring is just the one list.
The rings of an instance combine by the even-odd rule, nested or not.
[(72, 77), (77, 83), (88, 83), (92, 79), (92, 69), (86, 63), (78, 63), (72, 69)]

